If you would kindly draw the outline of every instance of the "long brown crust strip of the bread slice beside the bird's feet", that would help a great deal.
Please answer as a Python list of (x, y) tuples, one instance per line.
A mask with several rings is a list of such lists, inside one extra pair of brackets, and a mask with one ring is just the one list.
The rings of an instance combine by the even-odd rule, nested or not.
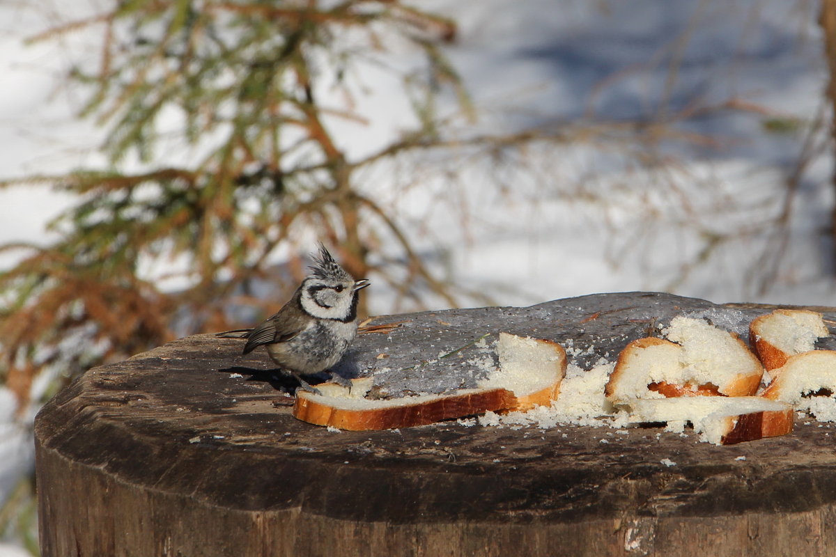
[(438, 395), (414, 404), (404, 404), (403, 398), (364, 400), (363, 405), (367, 408), (339, 408), (338, 398), (298, 392), (293, 404), (293, 416), (314, 425), (370, 431), (426, 425), (514, 408), (517, 405), (513, 392), (502, 388), (472, 389), (459, 394)]

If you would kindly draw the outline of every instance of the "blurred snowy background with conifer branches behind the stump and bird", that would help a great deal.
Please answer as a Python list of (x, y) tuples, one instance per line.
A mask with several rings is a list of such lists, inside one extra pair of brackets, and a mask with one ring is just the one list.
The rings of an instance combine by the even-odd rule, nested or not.
[(832, 0), (0, 0), (0, 555), (72, 377), (278, 310), (836, 306)]

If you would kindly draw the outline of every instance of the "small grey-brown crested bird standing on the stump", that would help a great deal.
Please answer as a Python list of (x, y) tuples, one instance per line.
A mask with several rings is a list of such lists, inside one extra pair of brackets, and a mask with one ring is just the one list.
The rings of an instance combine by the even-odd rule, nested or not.
[(252, 330), (218, 336), (246, 338), (244, 354), (266, 347), (273, 362), (292, 373), (304, 389), (315, 392), (300, 376), (322, 372), (342, 359), (357, 334), (359, 291), (369, 286), (369, 281), (354, 281), (322, 245), (310, 270), (273, 316)]

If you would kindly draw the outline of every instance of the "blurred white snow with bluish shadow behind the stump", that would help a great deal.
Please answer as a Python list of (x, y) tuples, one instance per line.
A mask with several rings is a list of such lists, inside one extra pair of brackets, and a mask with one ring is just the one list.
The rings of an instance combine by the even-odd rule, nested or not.
[[(808, 133), (827, 118), (817, 5), (431, 0), (421, 7), (459, 26), (446, 53), (481, 114), (462, 135), (538, 127), (574, 138), (503, 153), (518, 165), (431, 153), (364, 170), (364, 190), (397, 212), (444, 278), (507, 305), (668, 290), (717, 302), (836, 306), (827, 126)], [(23, 44), (48, 21), (48, 8), (0, 3), (0, 179), (99, 160), (100, 131), (73, 117), (83, 95), (56, 82), (85, 38)], [(330, 123), (355, 157), (412, 123), (395, 83), (369, 71), (368, 96), (356, 100), (370, 124)], [(441, 104), (452, 107), (451, 99)], [(666, 135), (648, 145), (623, 131), (618, 145), (589, 139), (635, 119), (665, 123)], [(651, 162), (640, 164), (636, 154)], [(788, 191), (779, 234), (764, 225), (788, 206)], [(44, 223), (70, 203), (43, 185), (0, 190), (0, 242), (48, 241)], [(0, 254), (0, 266), (12, 261), (14, 254)], [(375, 313), (410, 309), (380, 282), (368, 293)], [(0, 414), (6, 398), (0, 391)], [(3, 431), (12, 424), (0, 439), (0, 497), (31, 466), (25, 429), (13, 423), (0, 423)]]

